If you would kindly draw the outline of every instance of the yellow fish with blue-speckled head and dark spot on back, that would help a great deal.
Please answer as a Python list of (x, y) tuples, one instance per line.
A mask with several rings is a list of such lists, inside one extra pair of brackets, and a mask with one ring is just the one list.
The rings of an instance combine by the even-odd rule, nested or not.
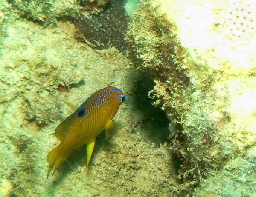
[(112, 119), (124, 100), (125, 94), (120, 89), (109, 86), (95, 92), (79, 107), (65, 102), (75, 111), (55, 128), (55, 135), (61, 143), (47, 155), (47, 179), (52, 169), (53, 176), (68, 155), (84, 144), (87, 144), (88, 166), (96, 136), (105, 129), (108, 137), (118, 128), (118, 123)]

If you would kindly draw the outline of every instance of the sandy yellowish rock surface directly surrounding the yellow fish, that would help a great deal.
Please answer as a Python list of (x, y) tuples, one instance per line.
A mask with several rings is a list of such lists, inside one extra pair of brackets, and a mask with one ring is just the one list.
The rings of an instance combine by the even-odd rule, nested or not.
[[(149, 80), (115, 48), (78, 42), (72, 23), (43, 26), (0, 4), (0, 196), (175, 196), (175, 157), (157, 121), (165, 116), (144, 107)], [(81, 147), (46, 182), (46, 156), (59, 143), (52, 134), (72, 113), (61, 100), (78, 105), (105, 86), (127, 95), (115, 117), (127, 128), (120, 138), (100, 135), (88, 167)]]

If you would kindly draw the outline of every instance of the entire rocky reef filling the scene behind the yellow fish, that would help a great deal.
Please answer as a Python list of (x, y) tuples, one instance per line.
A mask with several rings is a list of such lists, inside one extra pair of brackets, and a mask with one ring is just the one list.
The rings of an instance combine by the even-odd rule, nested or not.
[[(77, 34), (81, 18), (116, 27), (106, 10), (120, 3), (0, 1), (0, 196), (256, 195), (256, 3), (120, 2), (127, 53)], [(61, 100), (105, 86), (126, 93), (123, 135), (103, 133), (88, 167), (83, 146), (46, 182), (52, 134), (72, 113)]]

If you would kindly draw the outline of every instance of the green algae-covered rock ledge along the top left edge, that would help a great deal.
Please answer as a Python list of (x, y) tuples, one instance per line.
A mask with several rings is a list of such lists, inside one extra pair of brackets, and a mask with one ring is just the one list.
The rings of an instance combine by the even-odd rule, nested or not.
[[(109, 0), (8, 0), (23, 17), (39, 23), (56, 24), (57, 19), (76, 20), (80, 11), (102, 11)], [(3, 1), (4, 2), (4, 1)]]

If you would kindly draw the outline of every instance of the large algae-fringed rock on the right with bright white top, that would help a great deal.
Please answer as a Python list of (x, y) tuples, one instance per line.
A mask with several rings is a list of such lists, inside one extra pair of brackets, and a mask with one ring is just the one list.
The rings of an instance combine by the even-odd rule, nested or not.
[[(216, 186), (215, 194), (234, 188), (253, 194), (247, 189), (252, 185), (236, 187), (239, 173), (215, 173), (256, 143), (255, 9), (253, 0), (152, 0), (134, 12), (130, 29), (140, 69), (154, 77), (154, 104), (178, 125), (170, 138), (188, 194), (208, 179), (222, 182), (227, 176), (234, 187)], [(248, 166), (237, 167), (245, 172)], [(255, 181), (248, 178), (248, 184)]]

